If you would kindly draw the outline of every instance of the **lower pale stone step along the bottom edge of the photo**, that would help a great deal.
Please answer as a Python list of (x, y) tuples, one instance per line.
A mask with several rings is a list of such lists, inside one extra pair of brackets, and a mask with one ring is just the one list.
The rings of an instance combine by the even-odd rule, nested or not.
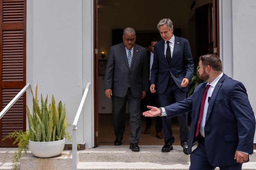
[[(188, 170), (189, 166), (190, 162), (79, 162), (77, 170)], [(256, 170), (256, 162), (244, 163), (242, 170)]]

